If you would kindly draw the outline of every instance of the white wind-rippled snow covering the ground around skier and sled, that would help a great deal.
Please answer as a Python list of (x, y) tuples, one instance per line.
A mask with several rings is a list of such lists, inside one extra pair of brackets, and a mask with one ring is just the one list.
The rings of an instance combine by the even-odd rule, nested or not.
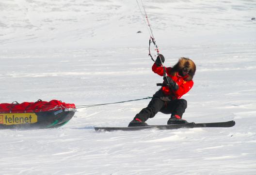
[[(165, 65), (197, 65), (184, 118), (236, 125), (96, 132), (127, 126), (149, 100), (83, 108), (62, 128), (0, 131), (1, 175), (256, 174), (256, 1), (144, 5)], [(0, 14), (1, 103), (120, 102), (152, 96), (162, 82), (136, 0), (1, 0)]]

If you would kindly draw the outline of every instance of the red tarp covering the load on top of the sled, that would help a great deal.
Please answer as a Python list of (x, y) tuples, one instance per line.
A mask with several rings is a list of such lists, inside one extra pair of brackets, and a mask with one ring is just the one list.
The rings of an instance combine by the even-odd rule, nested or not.
[(44, 102), (22, 102), (22, 103), (0, 103), (0, 113), (36, 113), (46, 111), (57, 111), (60, 109), (76, 108), (75, 104), (64, 103), (58, 100)]

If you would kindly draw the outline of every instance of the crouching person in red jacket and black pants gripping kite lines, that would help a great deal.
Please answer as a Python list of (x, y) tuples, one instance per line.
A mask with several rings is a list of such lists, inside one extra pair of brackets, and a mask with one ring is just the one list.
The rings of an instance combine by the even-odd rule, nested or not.
[(163, 77), (161, 88), (154, 95), (148, 106), (141, 110), (128, 127), (147, 126), (145, 121), (154, 117), (159, 111), (163, 114), (171, 114), (167, 121), (171, 124), (184, 124), (186, 120), (182, 119), (182, 115), (187, 108), (187, 101), (180, 99), (193, 87), (193, 76), (196, 66), (189, 58), (181, 57), (173, 67), (163, 67), (163, 55), (159, 55), (152, 66), (152, 71), (164, 75), (164, 69), (167, 76)]

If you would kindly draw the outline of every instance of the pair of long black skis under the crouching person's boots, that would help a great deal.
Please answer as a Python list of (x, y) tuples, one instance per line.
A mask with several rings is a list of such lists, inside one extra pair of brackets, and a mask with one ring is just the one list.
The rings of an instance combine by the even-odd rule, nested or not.
[(217, 123), (186, 123), (178, 125), (148, 125), (142, 127), (94, 127), (96, 131), (138, 131), (145, 129), (174, 130), (180, 128), (201, 128), (201, 127), (232, 127), (235, 121), (217, 122)]

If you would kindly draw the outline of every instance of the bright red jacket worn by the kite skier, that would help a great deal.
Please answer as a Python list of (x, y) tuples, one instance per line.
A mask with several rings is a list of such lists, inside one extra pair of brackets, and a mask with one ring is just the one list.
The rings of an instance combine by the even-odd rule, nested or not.
[[(174, 91), (168, 86), (163, 86), (161, 87), (161, 90), (166, 96), (172, 96), (173, 99), (180, 99), (184, 94), (186, 94), (192, 88), (194, 82), (192, 80), (185, 81), (187, 76), (181, 76), (177, 72), (175, 76), (172, 76), (170, 74), (171, 69), (172, 69), (171, 67), (168, 67), (168, 68), (165, 67), (166, 74), (176, 82), (179, 88), (178, 90)], [(162, 66), (158, 67), (156, 63), (153, 64), (152, 71), (154, 73), (159, 74), (160, 76), (163, 76), (163, 67)]]

